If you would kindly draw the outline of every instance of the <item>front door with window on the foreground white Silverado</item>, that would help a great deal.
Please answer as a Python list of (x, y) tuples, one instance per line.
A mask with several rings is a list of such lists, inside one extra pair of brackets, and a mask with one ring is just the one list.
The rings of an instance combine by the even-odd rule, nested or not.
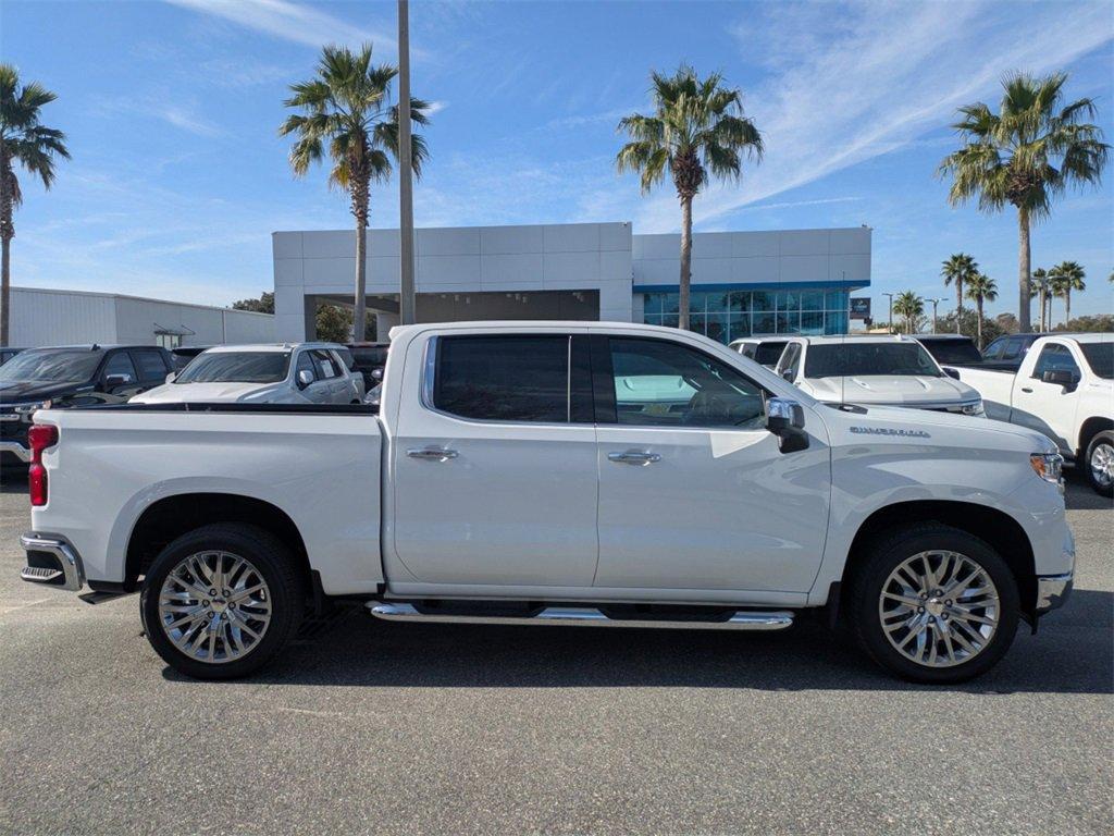
[(815, 414), (805, 410), (808, 449), (782, 454), (762, 388), (733, 366), (665, 339), (603, 342), (594, 360), (604, 356), (614, 404), (600, 404), (597, 377), (595, 585), (808, 591), (831, 484)]

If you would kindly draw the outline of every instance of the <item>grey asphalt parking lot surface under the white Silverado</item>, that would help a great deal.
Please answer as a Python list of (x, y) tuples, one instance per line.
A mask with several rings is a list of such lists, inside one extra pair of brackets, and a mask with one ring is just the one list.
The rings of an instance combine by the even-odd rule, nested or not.
[(0, 493), (0, 830), (1111, 833), (1114, 511), (1076, 480), (1076, 590), (988, 675), (889, 679), (778, 635), (315, 625), (201, 683), (97, 606), (18, 579)]

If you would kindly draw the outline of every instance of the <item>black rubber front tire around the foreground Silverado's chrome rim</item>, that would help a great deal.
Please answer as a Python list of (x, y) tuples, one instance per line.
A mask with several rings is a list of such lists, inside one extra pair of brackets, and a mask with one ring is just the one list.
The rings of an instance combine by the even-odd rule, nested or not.
[[(998, 622), (990, 640), (971, 658), (952, 667), (929, 667), (901, 653), (887, 638), (879, 612), (890, 573), (908, 558), (937, 550), (956, 552), (977, 564), (998, 591)], [(869, 545), (863, 557), (864, 562), (852, 579), (849, 615), (859, 644), (890, 673), (911, 682), (964, 682), (988, 671), (1009, 650), (1020, 615), (1017, 580), (1006, 562), (984, 541), (941, 523), (920, 523), (883, 533)]]

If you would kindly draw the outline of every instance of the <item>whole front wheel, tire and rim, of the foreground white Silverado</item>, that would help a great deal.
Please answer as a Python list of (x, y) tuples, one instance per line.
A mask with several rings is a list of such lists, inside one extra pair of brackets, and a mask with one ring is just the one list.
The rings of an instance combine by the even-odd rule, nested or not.
[(985, 542), (939, 523), (877, 539), (851, 586), (860, 644), (913, 682), (962, 682), (1001, 659), (1017, 632), (1017, 582)]

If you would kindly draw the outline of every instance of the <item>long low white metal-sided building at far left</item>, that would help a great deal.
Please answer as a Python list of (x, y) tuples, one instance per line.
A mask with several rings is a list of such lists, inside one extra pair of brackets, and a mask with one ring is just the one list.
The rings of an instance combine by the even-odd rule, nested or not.
[(274, 342), (270, 313), (117, 293), (12, 288), (9, 342), (20, 348), (86, 343), (218, 346)]

